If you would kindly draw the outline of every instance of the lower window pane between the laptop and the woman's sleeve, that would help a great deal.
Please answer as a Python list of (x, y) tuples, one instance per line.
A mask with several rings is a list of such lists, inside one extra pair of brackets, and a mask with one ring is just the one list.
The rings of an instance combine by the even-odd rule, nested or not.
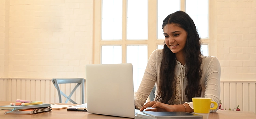
[(127, 63), (133, 66), (134, 91), (137, 92), (147, 66), (147, 46), (127, 46)]

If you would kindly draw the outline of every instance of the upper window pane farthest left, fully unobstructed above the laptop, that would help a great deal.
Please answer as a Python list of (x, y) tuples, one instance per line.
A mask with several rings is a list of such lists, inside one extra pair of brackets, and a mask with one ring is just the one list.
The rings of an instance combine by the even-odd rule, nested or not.
[(122, 39), (122, 0), (102, 0), (102, 40)]

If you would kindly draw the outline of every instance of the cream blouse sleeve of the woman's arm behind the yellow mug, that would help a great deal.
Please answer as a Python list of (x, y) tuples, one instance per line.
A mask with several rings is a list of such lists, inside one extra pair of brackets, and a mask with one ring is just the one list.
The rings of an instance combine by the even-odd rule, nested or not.
[[(220, 103), (220, 93), (221, 93), (221, 86), (220, 86), (220, 79), (221, 79), (221, 65), (217, 57), (211, 58), (208, 66), (207, 71), (205, 74), (205, 98), (211, 98), (212, 101), (217, 102), (218, 106), (215, 110), (210, 110), (210, 112), (216, 112), (219, 107)], [(190, 108), (193, 108), (192, 102), (186, 102)], [(211, 107), (214, 107), (214, 104), (211, 103)]]

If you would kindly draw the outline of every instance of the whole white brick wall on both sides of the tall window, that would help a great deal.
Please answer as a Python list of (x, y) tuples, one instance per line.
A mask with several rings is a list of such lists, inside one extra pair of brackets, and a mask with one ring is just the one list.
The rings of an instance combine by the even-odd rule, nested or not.
[[(256, 80), (255, 2), (217, 0), (221, 80)], [(84, 78), (92, 29), (93, 0), (0, 0), (0, 77)]]

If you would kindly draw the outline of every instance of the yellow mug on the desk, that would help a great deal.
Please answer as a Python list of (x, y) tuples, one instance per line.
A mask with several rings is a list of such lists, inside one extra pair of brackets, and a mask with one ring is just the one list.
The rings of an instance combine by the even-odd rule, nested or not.
[[(211, 98), (192, 98), (194, 113), (210, 113), (211, 110), (215, 110), (218, 107), (216, 102), (213, 102)], [(214, 107), (211, 108), (211, 103)]]

